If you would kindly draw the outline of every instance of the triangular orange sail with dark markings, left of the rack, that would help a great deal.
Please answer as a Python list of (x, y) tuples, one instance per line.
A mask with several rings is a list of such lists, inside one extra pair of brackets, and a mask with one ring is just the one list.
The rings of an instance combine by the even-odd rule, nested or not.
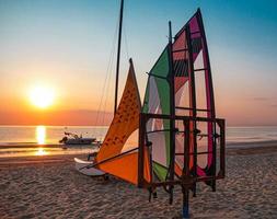
[[(138, 146), (140, 96), (132, 61), (120, 103), (108, 128), (103, 145), (96, 155), (96, 168), (138, 184)], [(150, 182), (149, 159), (145, 154), (145, 180)]]

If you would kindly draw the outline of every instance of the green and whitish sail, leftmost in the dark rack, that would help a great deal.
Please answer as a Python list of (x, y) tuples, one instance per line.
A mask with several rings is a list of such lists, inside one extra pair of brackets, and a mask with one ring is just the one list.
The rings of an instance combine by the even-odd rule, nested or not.
[[(151, 69), (146, 90), (143, 113), (170, 115), (169, 47)], [(170, 163), (170, 122), (150, 118), (147, 123), (147, 138), (152, 143), (152, 166), (159, 180), (166, 177)]]

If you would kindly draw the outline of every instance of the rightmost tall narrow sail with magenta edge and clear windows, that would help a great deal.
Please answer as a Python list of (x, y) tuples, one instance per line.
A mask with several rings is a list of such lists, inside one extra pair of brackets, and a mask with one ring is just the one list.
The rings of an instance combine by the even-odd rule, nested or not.
[[(201, 113), (200, 116), (207, 118), (215, 118), (213, 92), (211, 72), (209, 69), (209, 57), (205, 38), (205, 31), (200, 12), (197, 11), (195, 16), (189, 21), (189, 32), (192, 38), (193, 59), (195, 69), (204, 69), (195, 73), (196, 83), (196, 103), (197, 108), (205, 108), (207, 112)], [(197, 174), (209, 175), (212, 165), (212, 123), (203, 123), (197, 127), (201, 134), (207, 134), (207, 137), (197, 141), (198, 152), (210, 152), (209, 154), (201, 154), (197, 158)]]

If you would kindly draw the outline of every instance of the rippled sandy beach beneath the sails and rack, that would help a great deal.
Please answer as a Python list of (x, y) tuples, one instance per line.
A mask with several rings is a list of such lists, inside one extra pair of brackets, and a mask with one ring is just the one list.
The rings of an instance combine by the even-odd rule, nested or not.
[[(199, 185), (191, 198), (192, 218), (277, 218), (277, 145), (233, 147), (227, 177), (217, 193)], [(80, 157), (80, 155), (79, 155)], [(0, 218), (180, 218), (182, 194), (173, 205), (118, 178), (93, 178), (74, 170), (73, 155), (0, 159)]]

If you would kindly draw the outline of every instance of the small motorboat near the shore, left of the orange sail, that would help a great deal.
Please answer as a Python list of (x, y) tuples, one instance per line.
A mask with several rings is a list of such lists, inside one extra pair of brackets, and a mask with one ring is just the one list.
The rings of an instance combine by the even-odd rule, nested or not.
[(83, 138), (82, 135), (78, 136), (77, 134), (65, 131), (65, 137), (59, 140), (60, 143), (70, 146), (70, 145), (100, 145), (101, 142), (96, 138)]

